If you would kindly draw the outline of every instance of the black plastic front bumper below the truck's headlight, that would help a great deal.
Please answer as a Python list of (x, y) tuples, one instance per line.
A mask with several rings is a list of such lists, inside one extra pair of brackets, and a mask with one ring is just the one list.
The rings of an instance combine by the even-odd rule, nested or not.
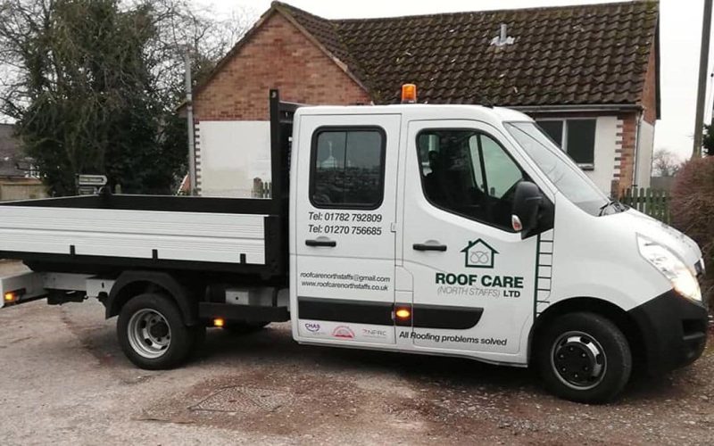
[(708, 326), (702, 304), (670, 290), (628, 312), (642, 334), (650, 373), (684, 367), (702, 356)]

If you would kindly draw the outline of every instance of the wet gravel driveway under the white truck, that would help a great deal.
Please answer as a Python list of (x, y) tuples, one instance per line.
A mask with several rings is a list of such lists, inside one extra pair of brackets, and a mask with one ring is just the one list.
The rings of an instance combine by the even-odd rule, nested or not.
[[(0, 262), (0, 276), (18, 270)], [(560, 401), (528, 370), (305, 347), (289, 326), (210, 330), (186, 367), (121, 354), (96, 301), (0, 310), (0, 444), (711, 444), (714, 348), (608, 406)], [(710, 345), (712, 340), (710, 340)]]

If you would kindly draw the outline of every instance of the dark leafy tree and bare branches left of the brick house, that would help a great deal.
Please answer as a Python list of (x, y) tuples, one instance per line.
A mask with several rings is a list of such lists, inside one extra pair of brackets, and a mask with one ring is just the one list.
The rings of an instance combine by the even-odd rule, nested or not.
[(188, 0), (0, 0), (0, 112), (55, 194), (76, 173), (165, 191), (185, 169), (186, 51), (200, 79), (238, 23)]

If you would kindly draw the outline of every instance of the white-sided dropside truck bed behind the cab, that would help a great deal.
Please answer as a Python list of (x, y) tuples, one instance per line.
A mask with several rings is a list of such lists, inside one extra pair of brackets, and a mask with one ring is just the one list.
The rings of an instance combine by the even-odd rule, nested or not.
[(270, 200), (87, 195), (0, 203), (0, 259), (35, 271), (156, 268), (278, 277), (281, 217)]

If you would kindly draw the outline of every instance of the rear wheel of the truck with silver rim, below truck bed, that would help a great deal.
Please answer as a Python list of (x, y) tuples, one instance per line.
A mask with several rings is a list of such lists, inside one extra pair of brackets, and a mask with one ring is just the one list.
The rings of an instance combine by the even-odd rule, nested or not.
[(145, 293), (122, 307), (117, 336), (121, 350), (138, 368), (163, 370), (187, 359), (200, 335), (192, 328), (169, 297)]

